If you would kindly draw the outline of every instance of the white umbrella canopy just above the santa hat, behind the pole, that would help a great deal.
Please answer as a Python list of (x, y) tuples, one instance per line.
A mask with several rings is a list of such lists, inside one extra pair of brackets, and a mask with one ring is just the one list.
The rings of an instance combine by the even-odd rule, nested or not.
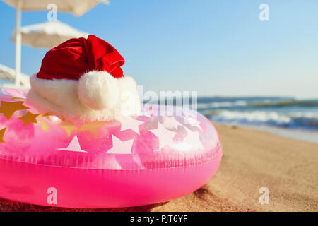
[[(73, 37), (88, 37), (88, 33), (76, 30), (60, 21), (49, 21), (28, 25), (20, 29), (22, 44), (31, 47), (49, 48), (55, 47)], [(13, 31), (13, 42), (16, 42), (16, 30)]]

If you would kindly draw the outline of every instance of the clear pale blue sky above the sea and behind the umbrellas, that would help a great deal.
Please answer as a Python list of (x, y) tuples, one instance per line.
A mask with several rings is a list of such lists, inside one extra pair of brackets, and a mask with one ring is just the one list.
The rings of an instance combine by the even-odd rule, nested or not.
[[(269, 21), (259, 20), (263, 3)], [(12, 68), (15, 13), (0, 1), (0, 63)], [(46, 15), (23, 12), (22, 25)], [(318, 98), (317, 0), (110, 0), (57, 18), (110, 42), (146, 90)], [(23, 46), (22, 72), (37, 72), (45, 52)]]

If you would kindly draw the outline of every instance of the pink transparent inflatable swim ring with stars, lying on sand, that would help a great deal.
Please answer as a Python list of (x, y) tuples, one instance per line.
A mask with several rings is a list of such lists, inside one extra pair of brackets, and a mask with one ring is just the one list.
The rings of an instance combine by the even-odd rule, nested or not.
[(136, 117), (73, 124), (39, 114), (25, 95), (1, 90), (1, 198), (69, 208), (141, 206), (199, 189), (220, 165), (218, 132), (199, 113), (169, 116), (166, 107), (153, 107)]

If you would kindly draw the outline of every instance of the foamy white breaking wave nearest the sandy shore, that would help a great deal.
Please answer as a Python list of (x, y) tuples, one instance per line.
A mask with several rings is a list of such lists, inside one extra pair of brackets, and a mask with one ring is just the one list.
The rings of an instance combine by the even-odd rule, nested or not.
[(229, 124), (283, 126), (288, 128), (318, 129), (318, 112), (278, 113), (269, 111), (203, 112), (211, 121)]

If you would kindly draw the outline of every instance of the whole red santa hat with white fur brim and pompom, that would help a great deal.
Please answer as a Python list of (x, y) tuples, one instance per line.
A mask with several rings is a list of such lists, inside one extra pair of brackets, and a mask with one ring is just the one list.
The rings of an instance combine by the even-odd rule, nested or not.
[(66, 119), (101, 121), (136, 114), (140, 102), (124, 58), (95, 35), (68, 40), (49, 50), (30, 77), (28, 102)]

